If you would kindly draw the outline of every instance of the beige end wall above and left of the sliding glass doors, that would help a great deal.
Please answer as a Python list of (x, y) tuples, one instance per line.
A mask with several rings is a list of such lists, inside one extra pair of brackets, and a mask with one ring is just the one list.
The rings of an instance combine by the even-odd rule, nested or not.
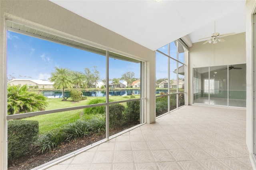
[(216, 44), (193, 43), (188, 56), (188, 104), (193, 103), (193, 68), (246, 63), (245, 33), (227, 36)]

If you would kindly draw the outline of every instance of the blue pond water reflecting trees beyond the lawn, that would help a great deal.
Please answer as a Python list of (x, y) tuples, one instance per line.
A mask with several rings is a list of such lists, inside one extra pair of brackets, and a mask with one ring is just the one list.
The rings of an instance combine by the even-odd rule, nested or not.
[[(82, 91), (83, 96), (87, 97), (104, 97), (106, 96), (106, 91)], [(156, 94), (160, 94), (161, 92), (166, 93), (167, 89), (157, 90)], [(42, 91), (45, 97), (48, 98), (62, 98), (62, 91)], [(140, 90), (114, 90), (109, 91), (110, 96), (130, 96), (130, 95), (139, 95)], [(70, 92), (65, 91), (65, 96), (69, 96)]]

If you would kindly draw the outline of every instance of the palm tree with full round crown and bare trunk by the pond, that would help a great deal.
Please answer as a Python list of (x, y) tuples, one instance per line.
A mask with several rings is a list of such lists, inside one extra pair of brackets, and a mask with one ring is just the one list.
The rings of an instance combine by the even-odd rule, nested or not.
[(71, 71), (66, 68), (55, 67), (55, 71), (51, 73), (50, 81), (54, 82), (53, 86), (57, 89), (62, 89), (62, 97), (65, 99), (65, 88), (72, 88), (72, 76)]

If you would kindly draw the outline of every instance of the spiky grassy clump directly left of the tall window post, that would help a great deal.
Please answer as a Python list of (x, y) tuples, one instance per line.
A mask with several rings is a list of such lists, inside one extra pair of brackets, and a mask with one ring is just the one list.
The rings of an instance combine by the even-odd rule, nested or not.
[(96, 114), (88, 120), (90, 129), (95, 133), (106, 131), (106, 117), (102, 114)]

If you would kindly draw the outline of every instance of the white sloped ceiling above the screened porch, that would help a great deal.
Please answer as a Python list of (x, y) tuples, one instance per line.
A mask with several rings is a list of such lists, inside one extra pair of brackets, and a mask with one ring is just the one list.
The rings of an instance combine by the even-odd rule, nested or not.
[[(100, 26), (156, 50), (188, 35), (245, 32), (246, 0), (50, 0)], [(201, 40), (202, 41), (202, 40)]]

